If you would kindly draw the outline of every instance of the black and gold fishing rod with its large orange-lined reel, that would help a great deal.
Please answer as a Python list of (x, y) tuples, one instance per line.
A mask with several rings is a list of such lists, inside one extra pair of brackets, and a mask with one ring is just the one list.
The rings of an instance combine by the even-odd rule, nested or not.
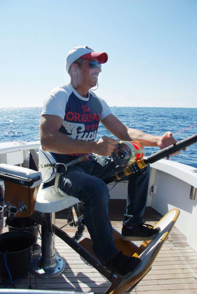
[(136, 173), (140, 169), (145, 168), (148, 163), (154, 163), (171, 153), (183, 150), (184, 148), (195, 144), (197, 142), (197, 134), (178, 141), (150, 156), (143, 159), (145, 151), (141, 143), (130, 141), (119, 141), (116, 149), (112, 152), (112, 158), (117, 165), (125, 167), (122, 171), (115, 173), (115, 175), (102, 179), (106, 184), (113, 181), (120, 180), (122, 177), (129, 176)]

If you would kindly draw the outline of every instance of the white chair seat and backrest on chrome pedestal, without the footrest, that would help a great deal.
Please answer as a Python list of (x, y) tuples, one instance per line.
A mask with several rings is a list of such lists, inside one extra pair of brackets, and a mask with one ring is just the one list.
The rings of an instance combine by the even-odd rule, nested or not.
[[(55, 233), (52, 224), (55, 224), (55, 212), (69, 208), (78, 202), (77, 198), (68, 196), (58, 188), (60, 174), (56, 165), (57, 161), (50, 152), (39, 149), (39, 171), (42, 174), (42, 183), (37, 193), (35, 211), (42, 213), (47, 226), (42, 225), (41, 255), (35, 260), (33, 271), (42, 277), (54, 277), (64, 270), (64, 260), (55, 254)], [(54, 186), (47, 183), (55, 179)], [(45, 185), (44, 185), (45, 184)]]

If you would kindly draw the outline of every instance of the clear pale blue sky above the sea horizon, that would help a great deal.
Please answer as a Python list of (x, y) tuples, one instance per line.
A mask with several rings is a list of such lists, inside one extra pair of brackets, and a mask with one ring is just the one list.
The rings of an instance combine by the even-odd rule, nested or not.
[(0, 1), (0, 107), (42, 106), (75, 46), (105, 51), (110, 106), (197, 108), (197, 1)]

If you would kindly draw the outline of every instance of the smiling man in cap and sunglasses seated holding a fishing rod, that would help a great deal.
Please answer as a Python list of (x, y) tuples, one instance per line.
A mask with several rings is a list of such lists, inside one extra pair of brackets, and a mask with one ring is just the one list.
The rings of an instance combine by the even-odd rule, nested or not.
[[(116, 138), (143, 142), (144, 146), (162, 149), (177, 141), (170, 131), (163, 136), (154, 136), (128, 128), (112, 114), (107, 103), (91, 90), (98, 85), (101, 64), (106, 63), (107, 59), (106, 53), (95, 52), (87, 46), (79, 46), (68, 52), (66, 70), (71, 81), (53, 89), (44, 101), (40, 139), (42, 149), (52, 152), (57, 162), (67, 164), (78, 158), (78, 162), (66, 171), (65, 168), (59, 169), (61, 176), (58, 186), (83, 202), (85, 224), (97, 258), (107, 270), (126, 277), (139, 267), (141, 260), (118, 252), (112, 238), (112, 225), (108, 217), (109, 190), (102, 179), (120, 171), (120, 167), (112, 158), (102, 157), (111, 155), (117, 141), (107, 136), (96, 141), (99, 122)], [(92, 153), (100, 156), (93, 156)], [(84, 160), (81, 161), (81, 158)], [(143, 220), (149, 170), (147, 166), (127, 177), (123, 240), (151, 240), (160, 231), (160, 228), (153, 228)]]

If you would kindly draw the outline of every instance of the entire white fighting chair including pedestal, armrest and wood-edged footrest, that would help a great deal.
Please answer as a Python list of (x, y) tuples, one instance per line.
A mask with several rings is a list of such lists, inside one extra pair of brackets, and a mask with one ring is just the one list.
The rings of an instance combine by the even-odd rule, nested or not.
[[(123, 254), (140, 257), (143, 261), (140, 267), (134, 273), (132, 273), (132, 275), (128, 279), (123, 279), (122, 277), (111, 275), (108, 270), (103, 267), (103, 265), (94, 255), (94, 252), (92, 250), (93, 242), (90, 238), (84, 238), (78, 243), (79, 239), (76, 238), (76, 235), (78, 234), (78, 236), (80, 237), (79, 227), (80, 223), (82, 223), (81, 220), (77, 223), (78, 233), (75, 233), (74, 238), (70, 237), (67, 233), (54, 225), (55, 212), (73, 206), (78, 201), (77, 198), (68, 196), (63, 191), (59, 190), (59, 188), (57, 187), (57, 183), (55, 183), (54, 186), (46, 185), (52, 179), (57, 179), (59, 176), (56, 172), (57, 166), (55, 158), (52, 156), (51, 153), (43, 152), (40, 149), (39, 165), (40, 172), (36, 172), (28, 168), (0, 164), (0, 179), (5, 182), (5, 200), (10, 200), (10, 204), (14, 205), (14, 203), (16, 203), (15, 205), (17, 206), (16, 207), (5, 205), (4, 210), (9, 209), (9, 213), (14, 215), (16, 213), (24, 213), (24, 217), (26, 216), (25, 213), (28, 213), (31, 218), (42, 225), (41, 256), (37, 257), (37, 259), (34, 260), (34, 273), (40, 275), (41, 277), (53, 277), (64, 270), (64, 260), (61, 257), (55, 255), (56, 234), (112, 283), (105, 294), (122, 294), (128, 291), (128, 289), (133, 289), (135, 285), (137, 285), (137, 283), (150, 270), (153, 261), (158, 255), (163, 243), (168, 238), (168, 234), (170, 233), (170, 230), (173, 228), (173, 225), (178, 218), (179, 210), (177, 208), (174, 208), (169, 211), (155, 225), (155, 227), (159, 226), (161, 228), (161, 232), (156, 236), (155, 239), (151, 241), (144, 241), (140, 245), (140, 247), (138, 247), (135, 243), (131, 241), (122, 240), (121, 234), (113, 229), (113, 237), (118, 250), (121, 250)], [(40, 183), (41, 185), (39, 187)], [(17, 184), (17, 187), (22, 187), (21, 191), (19, 191), (18, 188), (13, 187), (12, 184)], [(27, 193), (29, 193), (29, 196), (32, 196), (33, 201), (29, 201), (27, 199), (28, 194), (23, 193), (23, 189), (26, 189)], [(6, 199), (6, 193), (8, 194), (8, 197), (10, 199)], [(37, 198), (35, 199), (34, 196)], [(27, 212), (24, 211), (24, 205), (21, 206), (22, 197), (22, 201), (24, 202), (23, 204), (27, 206)], [(29, 213), (29, 207), (32, 204), (31, 202), (33, 202), (33, 204), (35, 203), (34, 213), (33, 210), (31, 212), (31, 209)], [(74, 214), (73, 222), (75, 223)], [(82, 229), (83, 226), (84, 225), (81, 225)]]

